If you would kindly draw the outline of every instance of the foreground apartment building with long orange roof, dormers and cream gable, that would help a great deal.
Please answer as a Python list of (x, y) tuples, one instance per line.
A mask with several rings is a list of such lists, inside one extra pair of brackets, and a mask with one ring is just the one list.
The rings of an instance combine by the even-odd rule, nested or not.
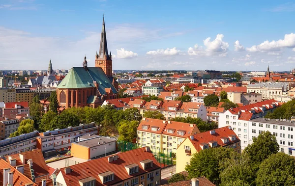
[(57, 186), (159, 186), (161, 164), (144, 147), (61, 168), (56, 181)]

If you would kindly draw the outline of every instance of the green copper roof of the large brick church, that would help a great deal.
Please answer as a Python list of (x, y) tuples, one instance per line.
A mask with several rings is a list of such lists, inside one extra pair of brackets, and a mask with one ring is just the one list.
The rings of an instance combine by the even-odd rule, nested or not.
[(58, 88), (89, 88), (94, 87), (93, 81), (98, 83), (98, 90), (102, 95), (106, 94), (105, 88), (112, 88), (115, 94), (118, 93), (100, 67), (88, 67), (88, 71), (83, 67), (73, 67)]

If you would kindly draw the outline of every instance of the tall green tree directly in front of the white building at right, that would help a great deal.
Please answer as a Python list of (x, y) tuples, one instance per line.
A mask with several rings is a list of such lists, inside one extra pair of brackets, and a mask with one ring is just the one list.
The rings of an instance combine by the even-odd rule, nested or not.
[(279, 151), (279, 145), (274, 135), (269, 131), (263, 131), (257, 138), (253, 138), (253, 143), (248, 145), (244, 151), (249, 155), (254, 170), (257, 170), (262, 161)]

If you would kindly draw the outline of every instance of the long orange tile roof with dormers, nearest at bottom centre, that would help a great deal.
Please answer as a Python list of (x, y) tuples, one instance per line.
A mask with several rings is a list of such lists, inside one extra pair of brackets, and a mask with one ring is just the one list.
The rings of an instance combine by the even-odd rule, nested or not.
[[(112, 155), (114, 156), (114, 155)], [(150, 159), (153, 161), (153, 167), (144, 170), (140, 161)], [(139, 170), (137, 173), (128, 175), (125, 166), (130, 164), (139, 165)], [(146, 151), (146, 148), (139, 148), (124, 153), (118, 153), (118, 160), (108, 162), (108, 157), (93, 159), (84, 163), (79, 163), (70, 166), (71, 172), (65, 174), (65, 168), (61, 168), (59, 174), (61, 173), (65, 184), (67, 186), (80, 186), (79, 180), (84, 178), (93, 177), (96, 180), (96, 186), (105, 186), (102, 184), (98, 174), (111, 171), (115, 175), (114, 181), (107, 182), (107, 185), (116, 185), (117, 183), (139, 176), (141, 174), (159, 169), (161, 164), (157, 162), (151, 151)]]

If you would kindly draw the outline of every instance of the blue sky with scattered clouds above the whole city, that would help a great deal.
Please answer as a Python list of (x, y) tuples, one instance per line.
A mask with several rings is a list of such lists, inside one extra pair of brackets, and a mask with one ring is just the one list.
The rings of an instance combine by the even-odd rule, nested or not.
[(295, 2), (0, 0), (0, 69), (94, 66), (105, 15), (114, 69), (295, 67)]

